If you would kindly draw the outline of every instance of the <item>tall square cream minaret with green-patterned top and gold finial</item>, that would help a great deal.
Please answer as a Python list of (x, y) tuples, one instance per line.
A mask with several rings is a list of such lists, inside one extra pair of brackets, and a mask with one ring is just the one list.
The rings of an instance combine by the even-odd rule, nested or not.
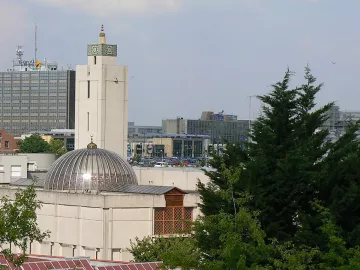
[(126, 158), (128, 68), (116, 64), (117, 45), (106, 43), (103, 25), (87, 55), (88, 64), (76, 66), (75, 149), (86, 148), (92, 136), (99, 148)]

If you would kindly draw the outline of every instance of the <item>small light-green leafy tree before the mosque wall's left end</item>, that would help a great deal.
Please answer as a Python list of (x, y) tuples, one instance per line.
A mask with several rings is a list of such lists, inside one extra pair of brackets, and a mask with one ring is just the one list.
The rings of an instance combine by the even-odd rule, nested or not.
[[(8, 196), (0, 199), (0, 247), (7, 245), (1, 253), (7, 259), (19, 266), (23, 263), (25, 252), (34, 241), (41, 242), (50, 232), (41, 232), (37, 224), (36, 210), (41, 208), (37, 200), (35, 187), (18, 190), (14, 200)], [(20, 248), (22, 254), (13, 256), (12, 249)]]

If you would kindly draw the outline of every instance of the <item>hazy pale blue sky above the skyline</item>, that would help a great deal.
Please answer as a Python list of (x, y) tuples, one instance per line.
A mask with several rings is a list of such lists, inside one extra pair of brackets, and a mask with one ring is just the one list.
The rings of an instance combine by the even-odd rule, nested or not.
[(318, 104), (359, 110), (359, 0), (0, 0), (0, 70), (17, 45), (60, 67), (86, 64), (104, 24), (129, 67), (129, 121), (197, 119), (202, 111), (256, 117), (287, 67), (309, 64), (324, 83)]

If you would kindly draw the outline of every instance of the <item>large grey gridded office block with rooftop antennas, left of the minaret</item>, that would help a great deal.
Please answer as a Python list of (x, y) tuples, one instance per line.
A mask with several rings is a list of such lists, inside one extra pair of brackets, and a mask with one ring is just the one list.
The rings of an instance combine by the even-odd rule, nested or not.
[(75, 71), (46, 60), (25, 61), (21, 46), (16, 55), (13, 67), (0, 72), (0, 129), (20, 136), (74, 128)]

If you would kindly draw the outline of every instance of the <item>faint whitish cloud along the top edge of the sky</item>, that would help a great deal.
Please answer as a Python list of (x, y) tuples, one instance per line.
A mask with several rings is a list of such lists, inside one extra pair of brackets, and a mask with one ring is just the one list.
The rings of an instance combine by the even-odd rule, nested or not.
[(86, 12), (96, 16), (121, 13), (147, 14), (176, 12), (181, 8), (180, 0), (30, 0), (31, 2), (61, 7), (67, 10)]

